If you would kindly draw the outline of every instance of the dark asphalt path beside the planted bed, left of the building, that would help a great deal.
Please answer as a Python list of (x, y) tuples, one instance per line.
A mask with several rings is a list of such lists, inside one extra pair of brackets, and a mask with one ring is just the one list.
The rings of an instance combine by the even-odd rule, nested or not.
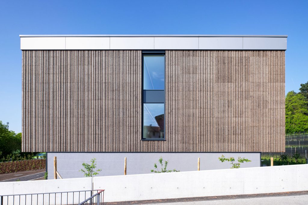
[[(18, 179), (19, 181), (29, 181), (29, 180), (35, 180), (38, 178), (44, 177), (45, 170), (33, 170), (33, 171), (24, 171), (24, 172), (16, 172), (16, 173), (10, 173), (10, 174), (3, 174), (6, 175), (5, 177), (1, 177), (4, 180), (1, 182), (16, 182)], [(43, 179), (43, 178), (42, 178)]]

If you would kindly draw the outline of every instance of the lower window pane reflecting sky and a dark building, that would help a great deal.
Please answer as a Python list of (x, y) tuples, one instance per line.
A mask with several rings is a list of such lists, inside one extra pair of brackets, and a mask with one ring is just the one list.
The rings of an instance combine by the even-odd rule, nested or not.
[(143, 104), (143, 138), (164, 138), (164, 103)]

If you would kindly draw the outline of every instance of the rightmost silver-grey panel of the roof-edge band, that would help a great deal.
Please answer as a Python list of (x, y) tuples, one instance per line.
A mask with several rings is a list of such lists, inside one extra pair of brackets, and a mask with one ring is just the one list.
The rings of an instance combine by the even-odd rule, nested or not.
[(286, 50), (287, 38), (243, 37), (244, 50)]

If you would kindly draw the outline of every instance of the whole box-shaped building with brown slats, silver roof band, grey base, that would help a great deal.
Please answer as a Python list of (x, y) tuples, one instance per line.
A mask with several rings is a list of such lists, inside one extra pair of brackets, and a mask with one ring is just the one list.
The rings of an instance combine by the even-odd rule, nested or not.
[[(286, 35), (20, 35), (22, 151), (63, 178), (285, 151)], [(52, 178), (50, 174), (49, 178)]]

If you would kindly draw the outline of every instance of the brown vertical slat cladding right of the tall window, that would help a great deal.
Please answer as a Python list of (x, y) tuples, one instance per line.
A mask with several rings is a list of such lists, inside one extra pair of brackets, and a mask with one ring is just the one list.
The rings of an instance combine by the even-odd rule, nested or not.
[(152, 151), (284, 151), (284, 63), (280, 50), (166, 50), (167, 141)]

